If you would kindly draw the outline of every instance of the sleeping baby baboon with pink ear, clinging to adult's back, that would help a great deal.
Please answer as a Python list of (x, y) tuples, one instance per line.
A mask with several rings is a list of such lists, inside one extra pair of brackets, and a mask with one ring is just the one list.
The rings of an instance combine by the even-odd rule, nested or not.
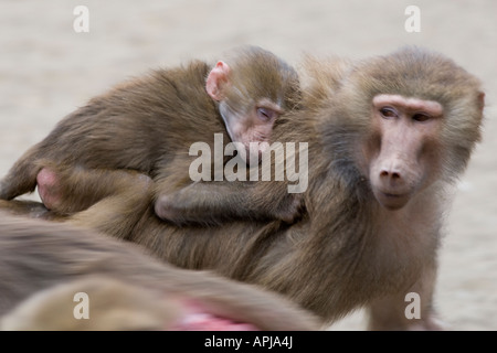
[[(87, 178), (82, 175), (113, 180), (138, 171), (157, 183), (155, 208), (163, 220), (179, 224), (233, 217), (292, 222), (299, 212), (298, 196), (226, 204), (230, 195), (250, 193), (252, 184), (225, 181), (204, 188), (190, 179), (188, 152), (199, 141), (212, 147), (214, 133), (223, 133), (228, 141), (228, 131), (239, 143), (239, 158), (258, 162), (267, 146), (262, 142), (271, 141), (279, 115), (292, 110), (298, 99), (295, 69), (255, 46), (239, 49), (214, 66), (197, 61), (157, 69), (93, 98), (60, 121), (11, 168), (0, 182), (0, 199), (31, 192), (38, 183), (49, 208), (70, 214), (115, 190), (99, 183), (82, 191), (77, 185)], [(189, 201), (179, 201), (184, 199)]]

